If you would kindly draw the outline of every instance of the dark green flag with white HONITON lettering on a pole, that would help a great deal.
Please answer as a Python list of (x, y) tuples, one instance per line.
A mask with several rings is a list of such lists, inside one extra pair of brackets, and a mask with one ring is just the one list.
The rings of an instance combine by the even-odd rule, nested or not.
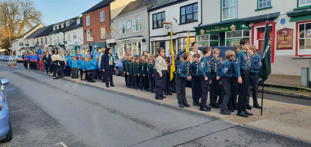
[(267, 79), (271, 74), (271, 42), (270, 42), (270, 30), (268, 23), (268, 16), (266, 20), (265, 33), (264, 33), (264, 48), (262, 49), (262, 66), (259, 69), (259, 77), (263, 79)]

